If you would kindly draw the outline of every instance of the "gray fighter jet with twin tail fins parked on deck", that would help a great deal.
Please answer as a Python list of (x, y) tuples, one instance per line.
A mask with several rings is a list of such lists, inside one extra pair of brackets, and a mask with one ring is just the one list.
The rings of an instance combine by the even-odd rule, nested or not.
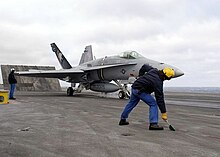
[[(60, 70), (38, 70), (38, 71), (18, 71), (17, 75), (30, 77), (58, 78), (75, 85), (67, 89), (67, 95), (72, 96), (83, 89), (96, 92), (116, 92), (119, 90), (120, 99), (129, 97), (130, 93), (127, 84), (122, 85), (121, 80), (134, 80), (138, 77), (139, 69), (144, 64), (157, 68), (159, 70), (169, 67), (175, 71), (175, 76), (179, 77), (184, 73), (171, 65), (147, 59), (136, 51), (125, 51), (116, 56), (109, 56), (100, 59), (94, 59), (92, 46), (86, 46), (78, 66), (72, 67), (63, 53), (55, 43), (51, 44), (52, 51), (55, 52), (57, 59), (62, 67)], [(132, 81), (127, 81), (132, 83)]]

